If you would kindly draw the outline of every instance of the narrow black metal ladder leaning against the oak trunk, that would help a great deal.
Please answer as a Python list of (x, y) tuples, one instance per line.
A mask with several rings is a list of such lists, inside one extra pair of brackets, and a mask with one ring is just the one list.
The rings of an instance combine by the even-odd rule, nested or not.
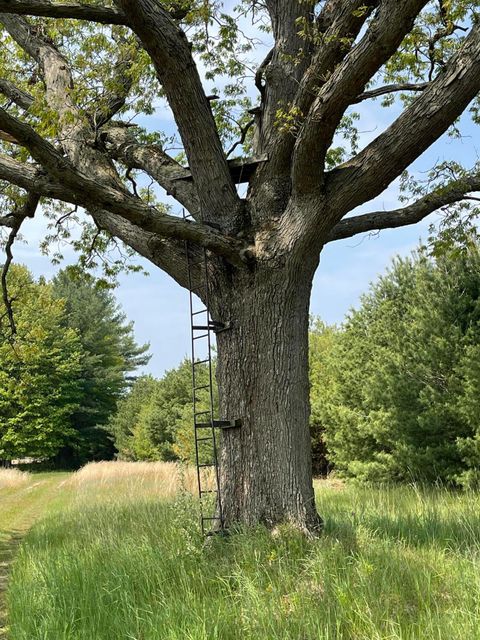
[[(185, 220), (193, 220), (190, 214), (183, 211)], [(227, 327), (221, 322), (212, 320), (209, 308), (208, 258), (204, 248), (200, 248), (200, 257), (191, 257), (190, 243), (185, 241), (185, 254), (188, 270), (188, 289), (190, 301), (190, 335), (192, 351), (192, 400), (193, 400), (193, 430), (195, 439), (195, 462), (197, 468), (198, 495), (200, 498), (200, 524), (202, 534), (212, 529), (223, 531), (225, 527), (223, 516), (222, 495), (220, 491), (219, 469), (219, 438), (217, 429), (239, 427), (240, 422), (218, 420), (215, 418), (215, 402), (213, 392), (212, 369), (212, 341), (213, 333), (225, 331)], [(196, 274), (193, 270), (197, 269)], [(202, 302), (203, 301), (203, 302)], [(203, 352), (202, 352), (203, 347)], [(200, 353), (200, 355), (199, 355)], [(207, 382), (201, 380), (201, 367), (207, 369)], [(198, 396), (202, 393), (204, 398)], [(205, 408), (199, 406), (202, 403)], [(201, 410), (200, 410), (201, 409)], [(205, 446), (209, 445), (208, 456), (205, 459)], [(213, 470), (212, 478), (207, 475)], [(209, 483), (210, 480), (210, 483)], [(206, 496), (214, 495), (215, 512), (205, 515)]]

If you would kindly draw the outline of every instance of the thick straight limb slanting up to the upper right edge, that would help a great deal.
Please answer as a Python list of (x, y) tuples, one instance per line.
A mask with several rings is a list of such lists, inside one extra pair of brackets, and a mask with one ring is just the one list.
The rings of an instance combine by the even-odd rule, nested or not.
[(378, 138), (328, 176), (329, 208), (341, 219), (382, 193), (443, 135), (480, 91), (480, 23), (461, 49)]

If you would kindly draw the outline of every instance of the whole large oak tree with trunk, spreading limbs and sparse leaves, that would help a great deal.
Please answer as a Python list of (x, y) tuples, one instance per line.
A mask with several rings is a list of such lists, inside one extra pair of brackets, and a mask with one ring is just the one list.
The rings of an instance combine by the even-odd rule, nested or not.
[[(328, 242), (413, 224), (480, 188), (475, 171), (457, 171), (404, 208), (347, 217), (381, 194), (476, 98), (478, 6), (243, 0), (234, 13), (230, 3), (222, 10), (195, 0), (0, 0), (8, 261), (39, 201), (49, 215), (55, 202), (83, 208), (102, 233), (182, 286), (185, 241), (194, 263), (207, 250), (213, 317), (229, 327), (218, 335), (222, 418), (242, 420), (222, 442), (227, 526), (290, 520), (318, 527), (308, 431), (313, 275)], [(229, 162), (228, 108), (245, 104), (248, 58), (260, 47), (256, 39), (242, 41), (242, 15), (263, 21), (272, 48), (251, 74), (254, 123), (240, 118), (241, 141), (253, 132), (253, 160)], [(238, 79), (220, 100), (207, 90), (215, 73)], [(398, 92), (400, 115), (342, 158), (336, 134), (351, 129), (352, 105)], [(126, 126), (159, 99), (173, 114), (182, 164), (158, 132)], [(131, 179), (139, 171), (193, 220), (152, 201), (145, 183)], [(240, 182), (248, 183), (246, 191)], [(62, 215), (63, 222), (72, 214)], [(200, 287), (200, 270), (194, 280)]]

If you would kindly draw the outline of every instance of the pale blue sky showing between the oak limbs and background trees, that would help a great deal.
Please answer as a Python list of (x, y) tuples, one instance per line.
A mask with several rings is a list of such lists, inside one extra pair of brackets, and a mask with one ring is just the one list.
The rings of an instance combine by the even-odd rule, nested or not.
[[(258, 56), (261, 58), (262, 52)], [(209, 88), (206, 86), (207, 92)], [(377, 102), (363, 103), (355, 110), (361, 113), (361, 146), (376, 137), (398, 115), (396, 107), (383, 109)], [(150, 118), (149, 126), (170, 133), (170, 113), (160, 109)], [(465, 166), (478, 161), (480, 141), (468, 117), (463, 119), (462, 131), (464, 137), (460, 140), (445, 136), (433, 145), (412, 167), (413, 172), (422, 174), (435, 163), (447, 159), (460, 161)], [(359, 211), (388, 210), (398, 206), (401, 205), (396, 182)], [(385, 271), (395, 255), (409, 254), (419, 239), (426, 237), (429, 224), (435, 219), (431, 216), (412, 227), (386, 230), (374, 237), (356, 236), (327, 245), (314, 281), (312, 314), (319, 315), (327, 323), (340, 323), (348, 310), (358, 303), (369, 283)], [(52, 266), (49, 258), (41, 255), (38, 249), (44, 232), (44, 222), (28, 221), (23, 229), (28, 244), (16, 244), (15, 260), (26, 264), (36, 276), (49, 277), (58, 267)], [(65, 251), (65, 257), (65, 264), (74, 260), (69, 251)], [(135, 323), (137, 341), (151, 345), (152, 358), (145, 371), (160, 376), (188, 355), (188, 294), (159, 269), (140, 262), (150, 275), (122, 275), (116, 296), (127, 317)]]

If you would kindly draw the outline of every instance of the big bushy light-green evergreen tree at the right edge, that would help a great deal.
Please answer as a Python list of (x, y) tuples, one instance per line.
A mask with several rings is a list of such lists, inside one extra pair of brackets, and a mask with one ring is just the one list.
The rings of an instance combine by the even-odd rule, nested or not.
[(318, 406), (337, 469), (478, 481), (479, 345), (478, 249), (397, 259), (325, 359)]

